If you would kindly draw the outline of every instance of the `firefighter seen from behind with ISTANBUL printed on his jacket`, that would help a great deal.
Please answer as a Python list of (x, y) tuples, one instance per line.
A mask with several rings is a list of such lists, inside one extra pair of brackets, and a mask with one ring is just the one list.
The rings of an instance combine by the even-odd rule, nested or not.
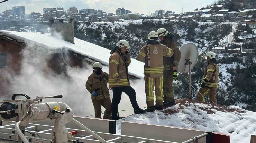
[[(163, 57), (172, 56), (173, 50), (160, 44), (155, 31), (151, 31), (148, 34), (148, 39), (147, 44), (139, 51), (137, 59), (139, 61), (145, 61), (144, 80), (147, 110), (148, 112), (154, 112), (155, 109), (163, 110)], [(156, 106), (154, 106), (154, 87)]]

